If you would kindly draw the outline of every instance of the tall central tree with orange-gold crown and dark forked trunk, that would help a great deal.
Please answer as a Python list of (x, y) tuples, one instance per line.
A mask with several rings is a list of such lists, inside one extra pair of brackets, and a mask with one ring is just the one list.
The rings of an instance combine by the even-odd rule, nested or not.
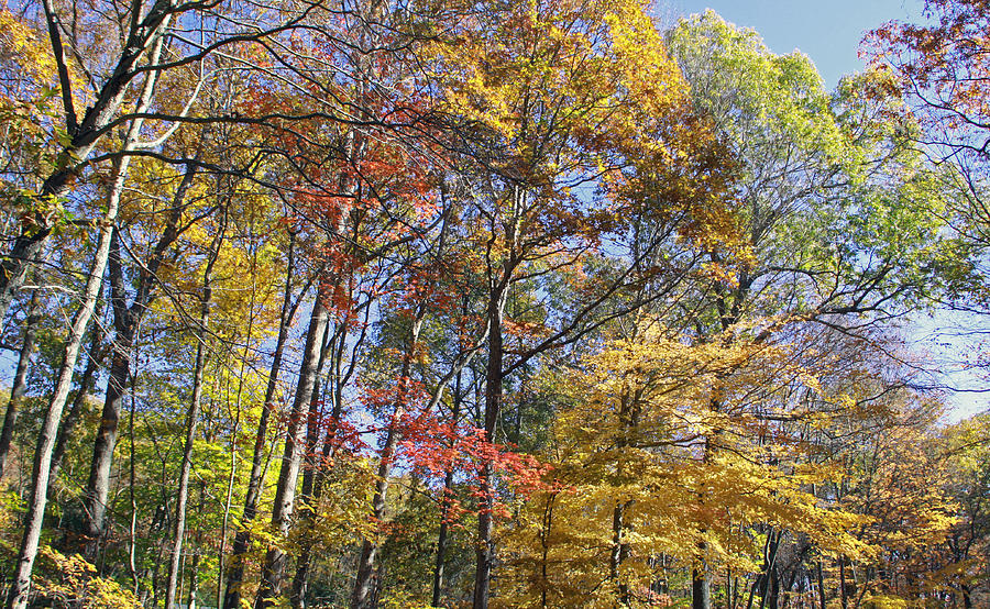
[[(546, 340), (506, 359), (505, 306), (513, 287), (548, 268), (579, 264), (604, 232), (623, 230), (613, 224), (619, 204), (600, 199), (588, 206), (580, 189), (595, 182), (607, 188), (607, 180), (596, 176), (622, 179), (622, 169), (636, 165), (631, 159), (642, 160), (644, 171), (658, 181), (673, 177), (697, 187), (713, 177), (717, 182), (719, 167), (706, 165), (715, 155), (704, 154), (703, 133), (692, 131), (696, 123), (675, 126), (683, 84), (642, 10), (637, 2), (512, 7), (492, 12), (492, 23), (482, 22), (483, 29), (452, 32), (458, 49), (443, 54), (441, 76), (450, 82), (446, 103), (451, 112), (479, 121), (486, 130), (485, 145), (497, 151), (487, 160), (487, 175), (473, 178), (484, 190), (470, 201), (470, 213), (484, 226), (473, 239), (484, 252), (480, 263), (488, 292), (483, 303), (487, 442), (496, 442), (506, 378), (595, 325), (598, 306), (628, 277), (628, 269), (619, 272), (618, 279), (581, 302), (576, 314), (562, 315)], [(688, 144), (693, 136), (700, 136), (694, 148)], [(686, 168), (686, 176), (668, 171), (664, 164)], [(683, 197), (670, 203), (670, 215), (680, 211), (705, 225), (702, 213), (692, 214), (710, 202), (700, 193), (704, 189), (691, 197), (684, 192), (690, 188), (679, 190), (678, 179), (663, 186)], [(708, 218), (718, 218), (716, 209), (708, 211), (714, 211)], [(479, 506), (475, 607), (487, 606), (494, 563), (493, 474), (488, 464)]]

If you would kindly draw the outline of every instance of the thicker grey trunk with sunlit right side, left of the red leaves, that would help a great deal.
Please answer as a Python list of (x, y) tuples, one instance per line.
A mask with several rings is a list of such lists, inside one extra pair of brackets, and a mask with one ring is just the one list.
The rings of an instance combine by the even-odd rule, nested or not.
[[(280, 535), (287, 535), (292, 525), (296, 500), (296, 479), (299, 476), (305, 445), (306, 412), (309, 411), (309, 402), (312, 399), (312, 387), (316, 383), (323, 333), (327, 331), (328, 313), (323, 307), (322, 290), (318, 290), (318, 292), (306, 335), (306, 347), (299, 367), (299, 381), (296, 386), (296, 397), (286, 432), (282, 469), (278, 473), (278, 485), (275, 489), (275, 506), (272, 510), (273, 529)], [(285, 579), (287, 562), (288, 557), (280, 549), (276, 546), (268, 549), (262, 566), (262, 580), (254, 601), (255, 608), (263, 609), (275, 605), (275, 599), (278, 597)]]

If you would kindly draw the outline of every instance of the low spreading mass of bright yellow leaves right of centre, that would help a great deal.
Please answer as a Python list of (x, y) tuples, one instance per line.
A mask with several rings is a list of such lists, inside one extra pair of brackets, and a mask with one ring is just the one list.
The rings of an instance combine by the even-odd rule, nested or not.
[[(801, 533), (826, 555), (876, 553), (850, 534), (870, 516), (825, 505), (810, 490), (836, 483), (842, 470), (802, 463), (801, 443), (769, 428), (768, 418), (785, 414), (771, 407), (778, 385), (821, 395), (820, 380), (791, 350), (747, 343), (747, 332), (692, 343), (640, 320), (635, 339), (604, 344), (580, 370), (551, 381), (568, 397), (553, 427), (561, 490), (521, 508), (526, 533), (512, 536), (521, 580), (539, 573), (538, 588), (557, 590), (558, 604), (608, 606), (619, 583), (635, 588), (656, 577), (649, 561), (658, 555), (758, 571), (760, 531)], [(616, 535), (625, 558), (612, 579)], [(525, 605), (535, 598), (527, 594), (536, 593), (510, 598)]]

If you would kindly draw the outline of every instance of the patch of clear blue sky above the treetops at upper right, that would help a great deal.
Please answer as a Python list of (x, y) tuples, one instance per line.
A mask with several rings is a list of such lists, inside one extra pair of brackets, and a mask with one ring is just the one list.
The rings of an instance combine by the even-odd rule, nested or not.
[[(828, 88), (862, 68), (864, 34), (891, 20), (917, 21), (920, 0), (668, 0), (664, 15), (713, 9), (726, 21), (752, 27), (778, 54), (800, 49), (812, 58)], [(662, 4), (661, 4), (662, 5)]]

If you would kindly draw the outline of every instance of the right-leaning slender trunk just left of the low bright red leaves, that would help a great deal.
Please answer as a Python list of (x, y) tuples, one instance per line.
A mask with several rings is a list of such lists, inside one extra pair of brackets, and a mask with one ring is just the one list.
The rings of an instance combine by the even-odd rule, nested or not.
[[(409, 372), (413, 364), (413, 357), (416, 351), (416, 343), (419, 341), (419, 331), (422, 328), (422, 309), (413, 320), (413, 326), (409, 330), (409, 343), (406, 353), (403, 355), (403, 366), (399, 373), (398, 386), (396, 388), (395, 412), (392, 422), (388, 425), (388, 432), (385, 435), (385, 444), (382, 446), (382, 457), (378, 459), (378, 470), (376, 472), (375, 494), (372, 498), (372, 519), (375, 525), (381, 523), (385, 518), (385, 499), (388, 492), (388, 476), (392, 472), (392, 462), (395, 458), (395, 450), (402, 438), (402, 431), (396, 425), (406, 412), (406, 400), (409, 384)], [(377, 533), (375, 533), (377, 536)], [(352, 609), (365, 609), (370, 607), (370, 594), (372, 575), (375, 571), (375, 556), (378, 550), (378, 540), (365, 539), (361, 546), (361, 557), (358, 560), (358, 577), (354, 580), (354, 593), (351, 596)]]

